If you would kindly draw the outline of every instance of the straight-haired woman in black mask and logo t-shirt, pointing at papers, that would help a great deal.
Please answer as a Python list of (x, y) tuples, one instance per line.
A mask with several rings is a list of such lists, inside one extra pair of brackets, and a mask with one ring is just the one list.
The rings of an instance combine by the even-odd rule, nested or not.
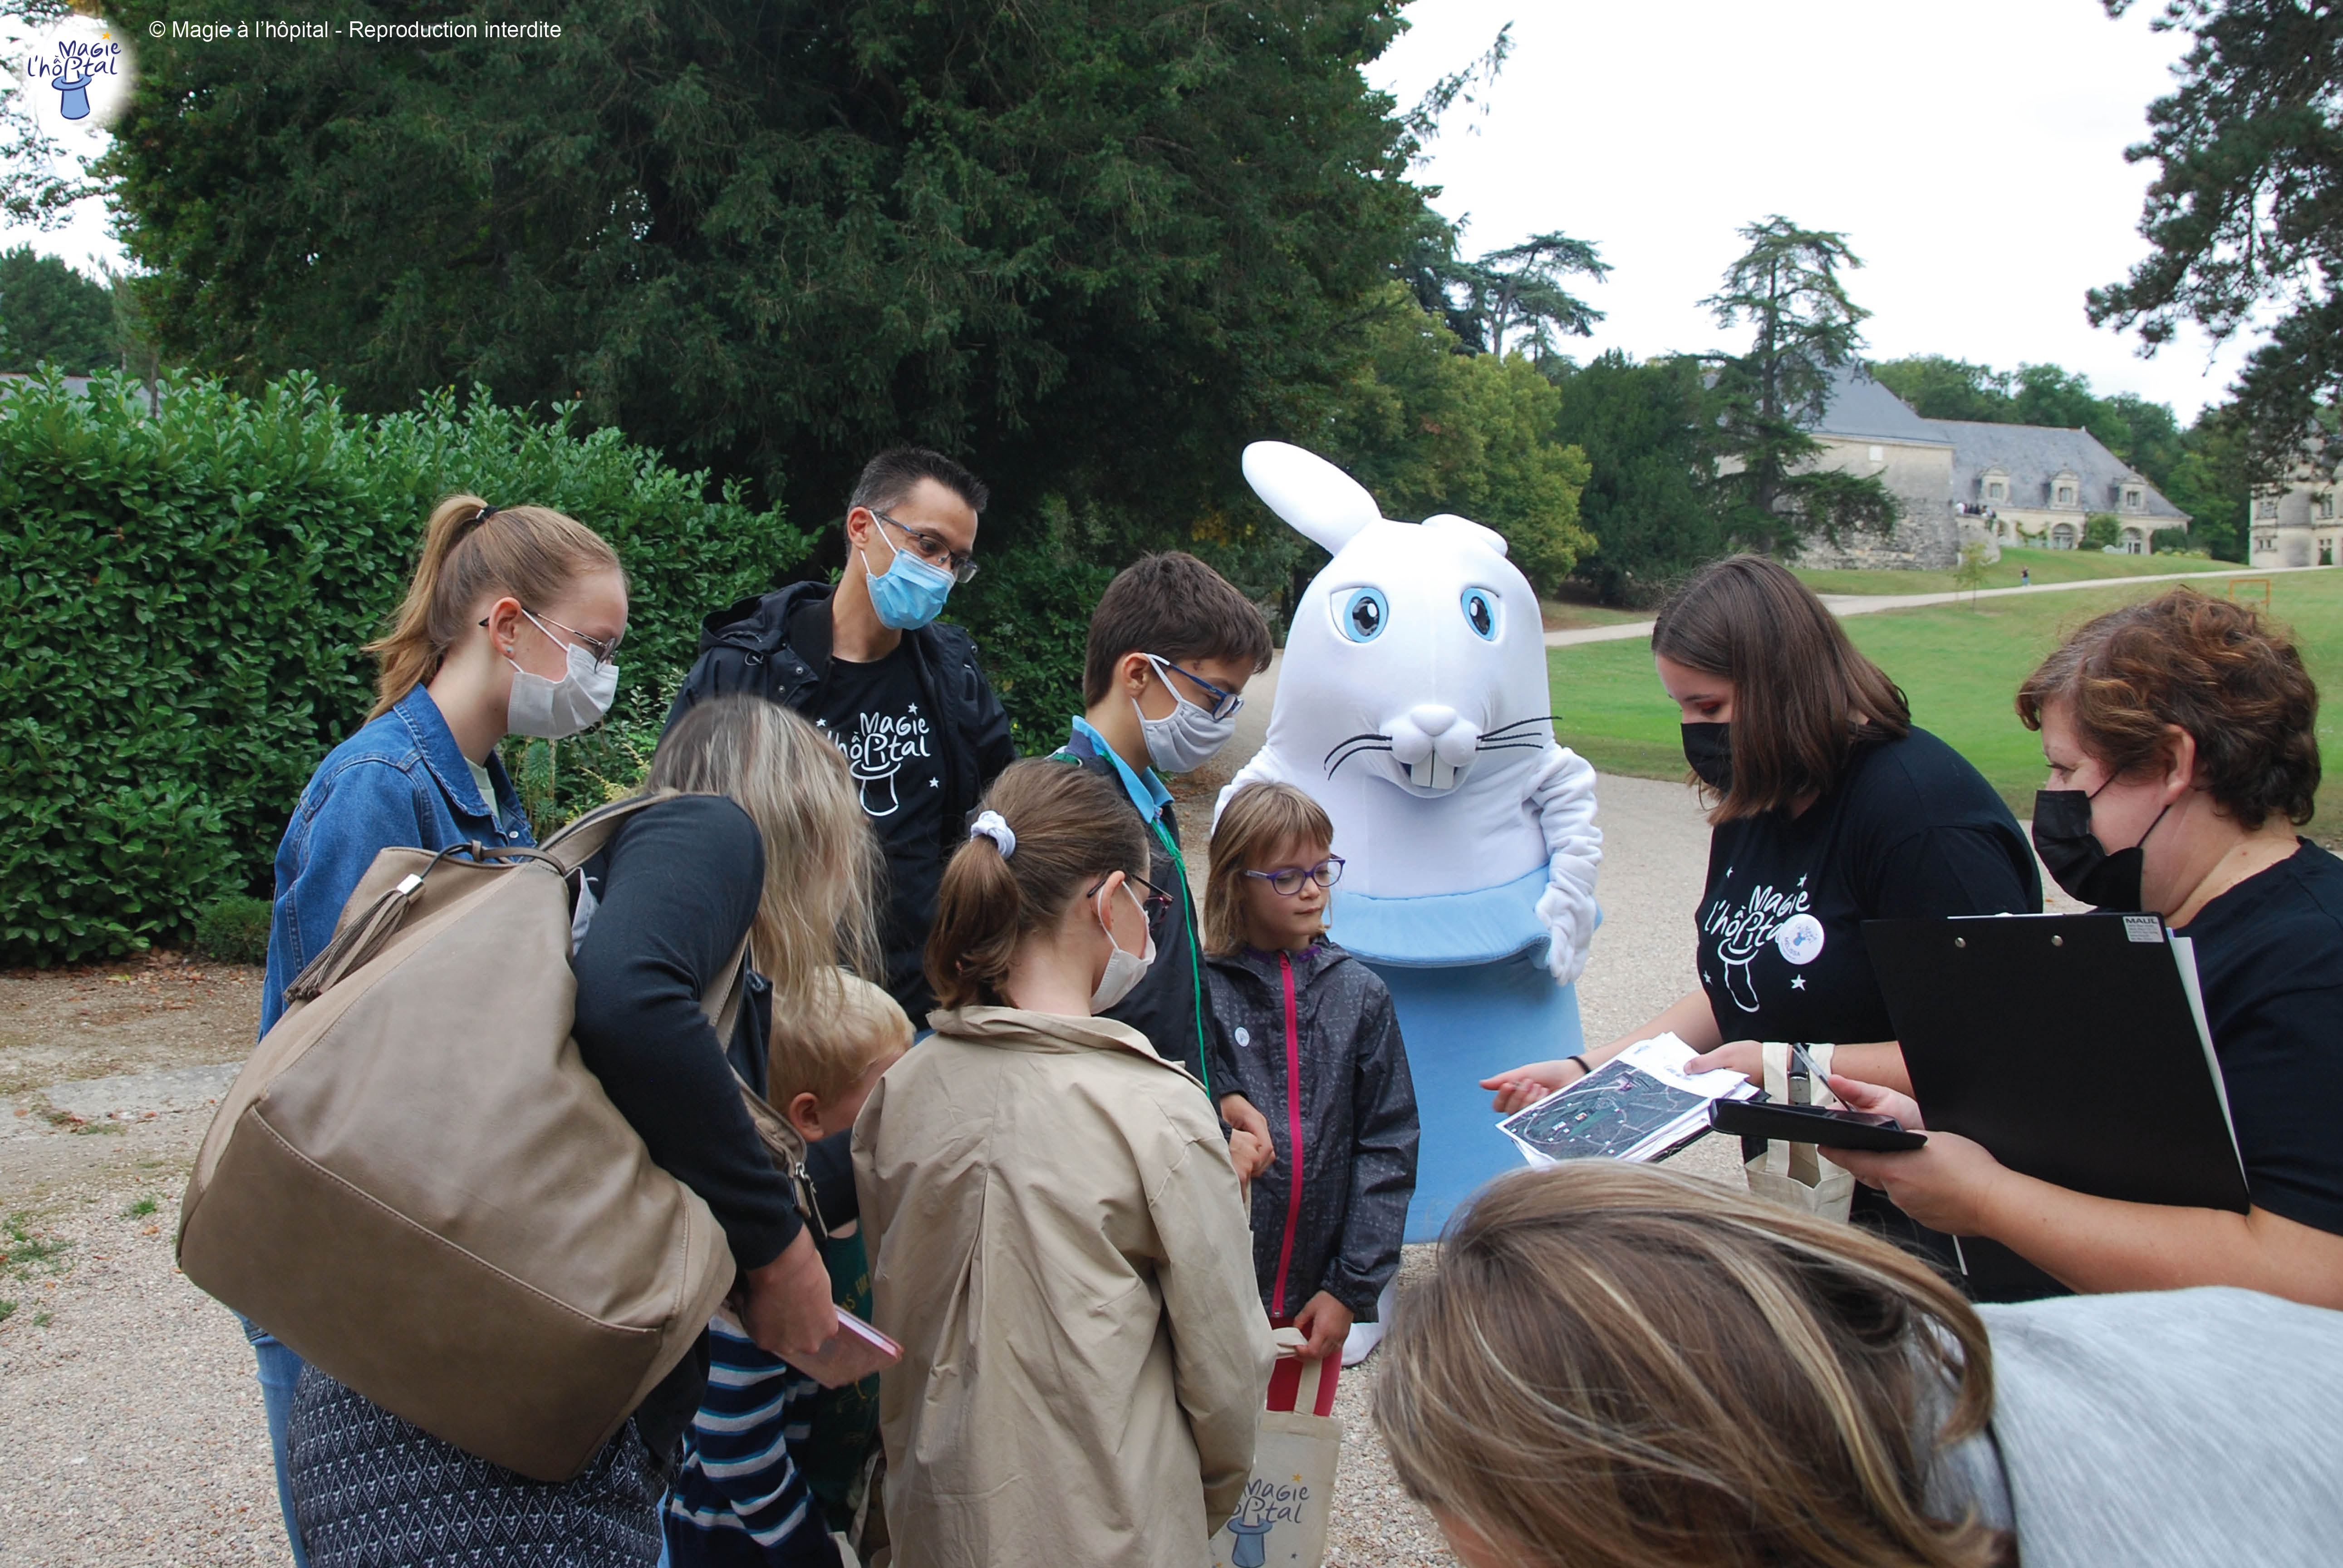
[[(1863, 921), (2034, 914), (2017, 818), (1959, 752), (1912, 727), (1879, 666), (1802, 581), (1760, 555), (1701, 567), (1661, 607), (1652, 661), (1685, 715), (1685, 759), (1715, 799), (1694, 912), (1701, 989), (1565, 1062), (1485, 1078), (1518, 1111), (1635, 1041), (1673, 1031), (1694, 1069), (1760, 1076), (1757, 1041), (1832, 1045), (1832, 1066), (1910, 1090)], [(1856, 1219), (1952, 1266), (1877, 1193)]]

